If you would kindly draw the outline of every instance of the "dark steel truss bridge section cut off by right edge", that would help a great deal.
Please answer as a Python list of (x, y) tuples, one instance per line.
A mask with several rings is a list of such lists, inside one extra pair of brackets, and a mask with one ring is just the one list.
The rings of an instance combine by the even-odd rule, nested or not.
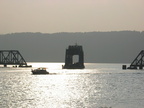
[(142, 50), (130, 65), (130, 69), (143, 69), (144, 67), (144, 50)]

